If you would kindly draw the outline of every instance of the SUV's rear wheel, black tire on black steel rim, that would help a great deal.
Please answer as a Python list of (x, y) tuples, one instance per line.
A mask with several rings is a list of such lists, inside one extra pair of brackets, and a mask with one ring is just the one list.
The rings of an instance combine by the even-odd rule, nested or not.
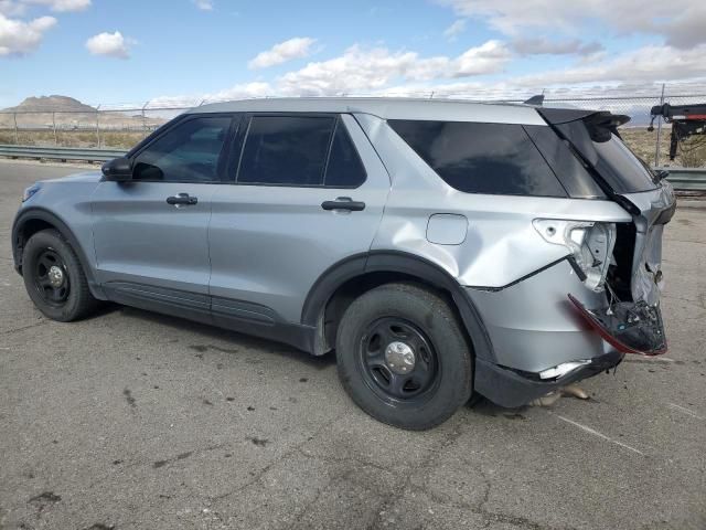
[(351, 399), (374, 418), (411, 431), (440, 425), (468, 402), (471, 356), (449, 305), (410, 284), (356, 298), (336, 335), (339, 377)]

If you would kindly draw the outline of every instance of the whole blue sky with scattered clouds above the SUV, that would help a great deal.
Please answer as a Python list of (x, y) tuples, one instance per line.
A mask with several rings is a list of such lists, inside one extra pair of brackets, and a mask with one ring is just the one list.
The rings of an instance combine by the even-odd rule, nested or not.
[(696, 0), (0, 0), (0, 107), (652, 86), (706, 77), (705, 26)]

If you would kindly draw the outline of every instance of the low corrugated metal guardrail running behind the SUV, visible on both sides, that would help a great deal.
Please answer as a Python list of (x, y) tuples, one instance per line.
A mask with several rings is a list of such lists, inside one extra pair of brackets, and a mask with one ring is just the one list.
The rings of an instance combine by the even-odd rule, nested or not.
[[(82, 149), (74, 147), (2, 146), (0, 157), (47, 160), (90, 160), (104, 162), (126, 153), (121, 149)], [(670, 172), (667, 180), (678, 191), (706, 192), (706, 168), (657, 168)]]

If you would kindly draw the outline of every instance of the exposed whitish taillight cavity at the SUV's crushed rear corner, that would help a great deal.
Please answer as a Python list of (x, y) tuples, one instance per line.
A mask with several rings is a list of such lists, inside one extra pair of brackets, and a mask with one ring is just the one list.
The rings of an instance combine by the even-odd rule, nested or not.
[(614, 223), (535, 219), (532, 224), (547, 243), (569, 250), (588, 288), (603, 290), (616, 246)]

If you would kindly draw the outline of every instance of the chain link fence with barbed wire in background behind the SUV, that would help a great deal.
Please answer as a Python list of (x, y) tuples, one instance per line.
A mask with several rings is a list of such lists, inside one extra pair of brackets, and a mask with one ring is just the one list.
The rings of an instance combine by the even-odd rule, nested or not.
[[(343, 96), (374, 95), (389, 97), (460, 98), (471, 102), (523, 103), (533, 93), (496, 92), (408, 92), (393, 91), (376, 94), (339, 94)], [(0, 145), (58, 146), (78, 148), (128, 149), (162, 124), (179, 114), (216, 99), (188, 100), (176, 104), (158, 102), (137, 105), (98, 105), (95, 110), (0, 110)], [(570, 106), (625, 114), (632, 119), (621, 128), (625, 142), (645, 161), (654, 166), (706, 167), (706, 137), (693, 137), (681, 146), (674, 161), (668, 160), (671, 127), (655, 121), (648, 131), (650, 109), (670, 103), (686, 105), (706, 103), (706, 85), (652, 85), (650, 89), (632, 87), (618, 89), (561, 89), (545, 93), (545, 106)]]

